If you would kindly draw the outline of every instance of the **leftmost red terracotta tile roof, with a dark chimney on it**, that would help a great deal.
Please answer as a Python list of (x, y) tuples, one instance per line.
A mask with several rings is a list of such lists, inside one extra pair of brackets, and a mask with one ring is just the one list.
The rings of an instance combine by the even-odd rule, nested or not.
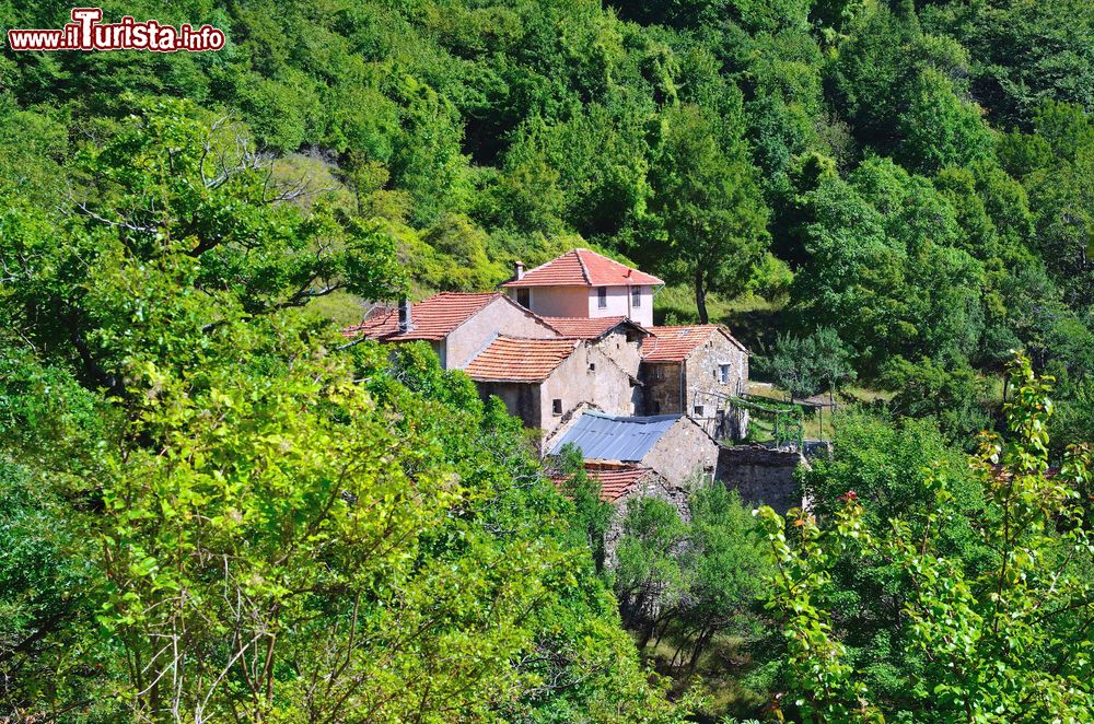
[(467, 322), (472, 315), (494, 299), (503, 296), (505, 295), (501, 292), (482, 294), (442, 292), (410, 306), (412, 329), (406, 334), (399, 334), (398, 310), (388, 307), (380, 310), (359, 325), (344, 329), (342, 335), (347, 337), (364, 335), (370, 339), (384, 341), (417, 339), (438, 341), (447, 337), (453, 329)]

